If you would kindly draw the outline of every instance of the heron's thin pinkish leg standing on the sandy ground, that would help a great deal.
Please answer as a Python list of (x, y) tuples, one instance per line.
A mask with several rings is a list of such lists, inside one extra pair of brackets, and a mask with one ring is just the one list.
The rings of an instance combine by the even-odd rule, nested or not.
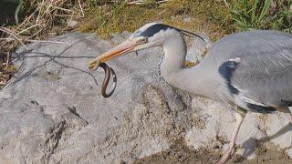
[(234, 132), (232, 134), (232, 138), (230, 139), (229, 148), (227, 149), (226, 152), (224, 152), (224, 155), (222, 159), (220, 159), (218, 164), (224, 164), (233, 155), (234, 149), (235, 149), (235, 139), (237, 137), (240, 126), (244, 121), (245, 115), (246, 115), (246, 111), (241, 108), (239, 111), (235, 112), (236, 124), (235, 124)]

